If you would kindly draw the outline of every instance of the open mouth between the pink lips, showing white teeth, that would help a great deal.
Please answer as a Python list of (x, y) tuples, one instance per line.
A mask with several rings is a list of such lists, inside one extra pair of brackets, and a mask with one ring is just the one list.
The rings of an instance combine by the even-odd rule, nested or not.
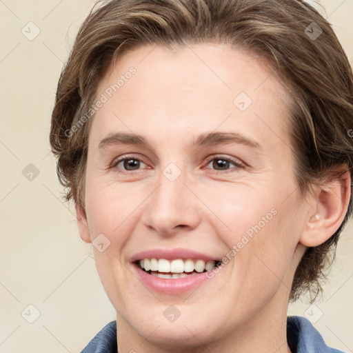
[(159, 279), (181, 279), (212, 271), (221, 261), (202, 259), (140, 259), (135, 265), (151, 276)]

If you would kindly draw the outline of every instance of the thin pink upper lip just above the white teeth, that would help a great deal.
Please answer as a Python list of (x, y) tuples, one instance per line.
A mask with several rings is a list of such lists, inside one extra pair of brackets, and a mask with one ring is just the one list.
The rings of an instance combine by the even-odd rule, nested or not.
[(219, 259), (216, 259), (212, 255), (203, 254), (202, 252), (196, 252), (190, 249), (177, 248), (177, 249), (150, 249), (150, 250), (138, 252), (137, 254), (134, 254), (131, 257), (130, 262), (135, 262), (143, 259), (166, 259), (166, 260), (198, 259), (198, 260), (204, 260), (204, 261), (210, 261), (210, 260), (220, 261)]

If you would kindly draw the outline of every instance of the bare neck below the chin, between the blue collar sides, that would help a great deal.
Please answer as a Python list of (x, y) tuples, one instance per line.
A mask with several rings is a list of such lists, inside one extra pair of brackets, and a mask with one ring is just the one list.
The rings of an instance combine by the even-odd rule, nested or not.
[[(287, 310), (288, 289), (282, 285), (265, 307), (256, 315), (249, 315), (238, 325), (219, 327), (209, 326), (209, 332), (202, 336), (190, 323), (175, 325), (165, 335), (161, 325), (149, 327), (148, 335), (140, 335), (121, 317), (117, 316), (117, 337), (119, 353), (203, 353), (203, 352), (252, 352), (252, 353), (288, 353)], [(230, 321), (236, 321), (236, 314)], [(212, 325), (212, 322), (210, 323)], [(179, 331), (178, 334), (176, 331)], [(173, 336), (175, 339), (173, 339)]]

